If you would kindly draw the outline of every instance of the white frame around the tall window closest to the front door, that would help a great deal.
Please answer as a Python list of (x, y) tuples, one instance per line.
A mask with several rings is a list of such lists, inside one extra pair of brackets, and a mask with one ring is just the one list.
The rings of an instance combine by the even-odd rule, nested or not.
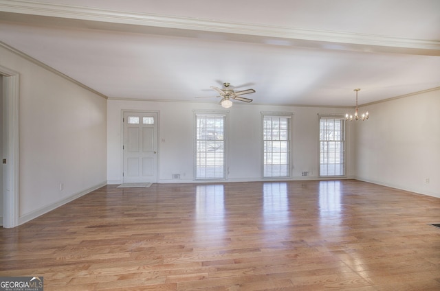
[[(228, 178), (228, 110), (194, 110), (194, 126), (193, 126), (193, 153), (194, 153), (194, 180), (195, 181), (225, 181)], [(223, 117), (223, 175), (222, 177), (201, 177), (197, 175), (198, 165), (197, 165), (197, 121), (200, 116), (214, 116)], [(214, 139), (203, 139), (203, 140), (214, 140)]]

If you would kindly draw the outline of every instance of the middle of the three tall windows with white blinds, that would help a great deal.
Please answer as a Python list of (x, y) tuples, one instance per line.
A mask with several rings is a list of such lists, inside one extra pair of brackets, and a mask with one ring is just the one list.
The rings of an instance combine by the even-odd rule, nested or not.
[(288, 177), (290, 116), (263, 115), (263, 178)]

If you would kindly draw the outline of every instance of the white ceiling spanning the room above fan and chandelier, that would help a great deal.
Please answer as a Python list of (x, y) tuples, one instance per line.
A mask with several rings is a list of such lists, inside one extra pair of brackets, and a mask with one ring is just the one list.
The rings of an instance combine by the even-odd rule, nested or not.
[[(109, 98), (353, 106), (440, 87), (439, 0), (0, 0), (0, 41)], [(1, 64), (0, 64), (1, 65)]]

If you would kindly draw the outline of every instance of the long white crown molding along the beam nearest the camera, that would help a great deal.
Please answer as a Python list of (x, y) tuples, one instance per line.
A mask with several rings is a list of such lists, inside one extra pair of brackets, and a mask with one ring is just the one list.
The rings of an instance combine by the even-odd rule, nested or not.
[[(199, 32), (237, 34), (241, 36), (256, 36), (263, 38), (282, 38), (284, 40), (299, 40), (320, 43), (334, 43), (340, 46), (333, 49), (362, 49), (364, 51), (393, 51), (406, 54), (426, 54), (440, 56), (439, 40), (419, 40), (396, 38), (371, 34), (355, 34), (347, 32), (332, 32), (326, 30), (306, 30), (294, 27), (272, 25), (230, 23), (195, 19), (179, 16), (146, 14), (135, 12), (120, 12), (85, 8), (56, 3), (41, 3), (25, 0), (0, 0), (0, 11), (14, 14), (56, 17), (81, 21), (98, 21), (120, 25), (137, 25), (144, 27), (161, 27), (177, 30)], [(322, 45), (331, 49), (331, 45)], [(382, 48), (382, 49), (381, 49)]]

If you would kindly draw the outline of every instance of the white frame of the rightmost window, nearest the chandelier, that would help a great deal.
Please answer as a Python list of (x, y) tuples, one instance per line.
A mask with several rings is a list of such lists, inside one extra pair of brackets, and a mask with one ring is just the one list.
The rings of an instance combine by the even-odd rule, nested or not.
[[(320, 132), (321, 132), (321, 119), (338, 119), (342, 121), (342, 139), (339, 140), (339, 142), (342, 144), (342, 168), (343, 168), (343, 174), (342, 175), (322, 175), (321, 174), (321, 142), (322, 141), (338, 141), (338, 140), (321, 140)], [(327, 163), (328, 164), (328, 163)], [(345, 178), (347, 177), (347, 121), (345, 120), (344, 115), (332, 115), (332, 114), (318, 114), (318, 176), (320, 178)]]

